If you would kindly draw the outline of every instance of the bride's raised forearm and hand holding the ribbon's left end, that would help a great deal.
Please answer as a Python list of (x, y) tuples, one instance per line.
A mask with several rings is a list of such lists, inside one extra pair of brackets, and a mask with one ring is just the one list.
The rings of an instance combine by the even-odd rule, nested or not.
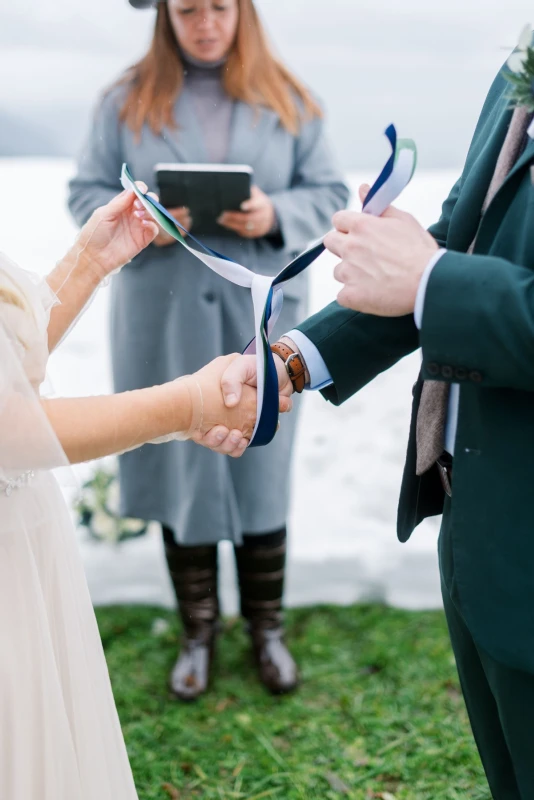
[[(139, 184), (146, 191), (144, 184)], [(52, 352), (85, 308), (99, 284), (127, 264), (156, 237), (158, 226), (140, 208), (133, 192), (122, 192), (97, 209), (78, 240), (46, 282), (60, 303), (48, 325)]]

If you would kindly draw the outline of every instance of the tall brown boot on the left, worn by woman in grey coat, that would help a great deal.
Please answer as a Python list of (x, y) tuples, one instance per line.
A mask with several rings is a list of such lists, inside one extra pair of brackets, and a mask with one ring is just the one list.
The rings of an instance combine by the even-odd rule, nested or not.
[(208, 688), (218, 632), (217, 546), (183, 547), (165, 539), (184, 631), (170, 687), (180, 700), (192, 701)]

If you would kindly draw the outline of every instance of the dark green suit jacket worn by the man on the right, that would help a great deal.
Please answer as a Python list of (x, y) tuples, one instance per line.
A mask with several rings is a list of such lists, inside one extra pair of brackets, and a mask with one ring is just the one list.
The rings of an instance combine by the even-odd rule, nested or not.
[[(415, 422), (423, 379), (460, 384), (451, 531), (455, 595), (478, 644), (534, 672), (534, 141), (481, 220), (511, 120), (508, 84), (495, 80), (463, 174), (430, 230), (448, 252), (434, 268), (423, 323), (386, 319), (336, 303), (300, 330), (333, 379), (338, 405), (422, 347), (398, 511), (407, 541), (443, 510), (437, 469), (415, 474)], [(466, 255), (479, 229), (475, 253)]]

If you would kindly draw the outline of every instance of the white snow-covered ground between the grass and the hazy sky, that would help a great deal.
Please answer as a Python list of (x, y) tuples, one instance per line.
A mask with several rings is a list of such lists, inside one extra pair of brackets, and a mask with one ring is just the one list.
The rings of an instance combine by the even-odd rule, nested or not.
[[(72, 170), (69, 160), (0, 159), (0, 249), (26, 269), (45, 274), (75, 236), (65, 207)], [(453, 172), (419, 173), (400, 205), (430, 224), (456, 177)], [(349, 179), (356, 189), (373, 175)], [(328, 257), (310, 273), (315, 311), (335, 297), (336, 283)], [(100, 290), (52, 356), (56, 393), (110, 390), (108, 302), (109, 291)], [(306, 396), (293, 469), (290, 605), (362, 599), (409, 608), (440, 605), (437, 521), (424, 523), (408, 545), (400, 545), (395, 536), (418, 363), (418, 354), (405, 359), (340, 409), (320, 396)], [(157, 531), (117, 548), (88, 542), (82, 534), (80, 546), (95, 603), (172, 604)], [(229, 547), (223, 547), (222, 562), (223, 604), (232, 612), (236, 595)]]

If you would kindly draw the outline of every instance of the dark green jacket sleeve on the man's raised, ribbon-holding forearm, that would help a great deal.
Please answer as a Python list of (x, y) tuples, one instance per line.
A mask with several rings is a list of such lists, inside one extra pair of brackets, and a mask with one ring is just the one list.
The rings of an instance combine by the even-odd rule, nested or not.
[(432, 380), (534, 391), (534, 273), (448, 252), (432, 270), (421, 327)]

